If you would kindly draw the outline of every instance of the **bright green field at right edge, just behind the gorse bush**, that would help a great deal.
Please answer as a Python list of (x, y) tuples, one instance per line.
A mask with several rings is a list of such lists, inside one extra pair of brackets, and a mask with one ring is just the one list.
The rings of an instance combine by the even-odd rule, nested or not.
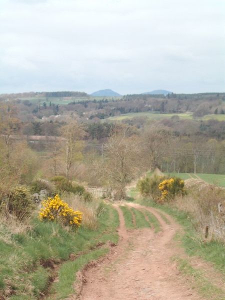
[[(151, 175), (153, 172), (148, 172), (148, 175)], [(207, 183), (215, 184), (218, 186), (225, 187), (225, 174), (204, 174), (204, 173), (176, 173), (176, 172), (170, 172), (163, 174), (169, 175), (169, 176), (177, 176), (180, 177), (183, 180), (194, 178), (194, 179), (202, 179)]]

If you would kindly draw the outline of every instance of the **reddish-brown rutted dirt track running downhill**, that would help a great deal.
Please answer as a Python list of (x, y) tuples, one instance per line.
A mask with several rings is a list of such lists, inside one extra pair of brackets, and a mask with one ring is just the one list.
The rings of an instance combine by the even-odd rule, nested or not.
[[(141, 208), (135, 203), (129, 206)], [(120, 241), (110, 254), (84, 272), (81, 300), (198, 300), (202, 299), (188, 286), (171, 262), (175, 254), (172, 238), (178, 225), (167, 216), (170, 224), (154, 208), (146, 208), (160, 222), (162, 231), (152, 228), (127, 231), (118, 205)]]

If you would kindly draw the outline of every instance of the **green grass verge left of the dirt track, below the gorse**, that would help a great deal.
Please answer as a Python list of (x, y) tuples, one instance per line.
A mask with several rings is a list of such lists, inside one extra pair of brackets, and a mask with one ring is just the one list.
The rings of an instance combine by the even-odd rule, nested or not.
[[(21, 233), (11, 233), (1, 224), (0, 299), (39, 299), (48, 291), (55, 269), (58, 269), (60, 274), (61, 267), (66, 269), (63, 266), (66, 261), (75, 265), (73, 269), (76, 269), (77, 265), (82, 265), (82, 262), (69, 260), (71, 253), (74, 256), (79, 255), (78, 261), (88, 261), (89, 258), (96, 258), (105, 253), (105, 249), (96, 249), (99, 243), (107, 241), (117, 243), (118, 225), (117, 211), (106, 204), (103, 204), (96, 230), (81, 227), (74, 232), (54, 222), (41, 222), (37, 217), (32, 220), (30, 228)], [(63, 282), (67, 280), (63, 296), (65, 290), (71, 291), (70, 277), (69, 271), (64, 272), (63, 276), (58, 276), (59, 285), (60, 280)], [(54, 291), (54, 296), (59, 297), (57, 290)]]

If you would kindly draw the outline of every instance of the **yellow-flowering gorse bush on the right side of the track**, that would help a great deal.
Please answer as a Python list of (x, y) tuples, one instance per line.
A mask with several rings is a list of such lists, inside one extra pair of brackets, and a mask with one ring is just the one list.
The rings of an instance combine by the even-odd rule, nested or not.
[(178, 177), (164, 179), (158, 184), (161, 192), (160, 201), (173, 199), (177, 194), (184, 194), (184, 180)]

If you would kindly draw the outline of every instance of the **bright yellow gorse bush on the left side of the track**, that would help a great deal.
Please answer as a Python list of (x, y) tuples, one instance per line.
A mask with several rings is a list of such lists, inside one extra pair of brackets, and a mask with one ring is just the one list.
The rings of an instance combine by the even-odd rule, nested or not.
[(73, 210), (68, 204), (62, 201), (59, 195), (48, 198), (41, 202), (44, 208), (40, 209), (39, 217), (41, 220), (59, 221), (63, 225), (79, 227), (82, 221), (82, 212)]

